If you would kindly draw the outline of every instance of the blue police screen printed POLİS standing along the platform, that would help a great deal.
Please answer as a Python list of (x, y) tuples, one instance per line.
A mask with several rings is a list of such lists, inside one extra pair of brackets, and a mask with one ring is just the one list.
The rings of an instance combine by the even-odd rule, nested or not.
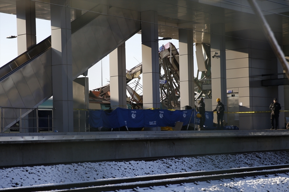
[[(123, 109), (116, 108), (111, 113), (103, 110), (89, 111), (89, 125), (94, 128), (106, 127), (116, 129), (119, 127), (174, 127), (176, 122), (199, 125), (196, 110), (163, 110), (163, 109)], [(213, 112), (206, 111), (205, 126), (213, 126)]]

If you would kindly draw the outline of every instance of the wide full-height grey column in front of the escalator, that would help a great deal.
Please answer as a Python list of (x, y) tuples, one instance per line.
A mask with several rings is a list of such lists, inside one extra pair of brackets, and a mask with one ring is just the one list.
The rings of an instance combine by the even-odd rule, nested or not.
[(50, 1), (52, 93), (55, 130), (73, 131), (73, 86), (70, 8), (68, 1)]

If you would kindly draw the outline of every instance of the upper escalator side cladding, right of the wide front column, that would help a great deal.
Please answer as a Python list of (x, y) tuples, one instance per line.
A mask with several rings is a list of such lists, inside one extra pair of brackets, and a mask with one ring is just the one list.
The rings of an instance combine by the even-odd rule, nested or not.
[(140, 20), (139, 12), (116, 7), (111, 9), (114, 15), (131, 19), (100, 15), (71, 35), (72, 55), (76, 65), (73, 65), (73, 79), (140, 31), (140, 21), (132, 20)]

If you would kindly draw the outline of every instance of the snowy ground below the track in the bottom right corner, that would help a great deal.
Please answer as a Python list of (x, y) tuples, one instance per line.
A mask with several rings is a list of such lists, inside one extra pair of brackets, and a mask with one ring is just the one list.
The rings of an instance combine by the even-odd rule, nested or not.
[(166, 186), (153, 186), (146, 188), (134, 188), (130, 190), (116, 190), (115, 192), (165, 192), (165, 191), (182, 191), (182, 192), (197, 192), (197, 191), (214, 191), (214, 192), (281, 192), (289, 191), (289, 173), (247, 177), (247, 178), (234, 178), (222, 180), (210, 180), (194, 183), (182, 183), (177, 185)]

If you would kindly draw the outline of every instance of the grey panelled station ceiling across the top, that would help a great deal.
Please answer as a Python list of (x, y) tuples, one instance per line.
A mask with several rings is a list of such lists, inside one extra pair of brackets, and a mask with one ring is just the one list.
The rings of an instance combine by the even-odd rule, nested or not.
[[(50, 3), (50, 0), (35, 1), (36, 18), (50, 20)], [(84, 14), (99, 4), (138, 12), (154, 10), (158, 12), (160, 37), (178, 39), (178, 29), (185, 28), (194, 31), (197, 43), (210, 43), (213, 23), (224, 23), (226, 33), (260, 30), (247, 0), (67, 0), (66, 4), (71, 8), (71, 20), (75, 9), (81, 9)], [(273, 32), (281, 34), (281, 44), (289, 45), (289, 1), (258, 0), (258, 4)], [(0, 12), (16, 14), (16, 0), (0, 0)]]

